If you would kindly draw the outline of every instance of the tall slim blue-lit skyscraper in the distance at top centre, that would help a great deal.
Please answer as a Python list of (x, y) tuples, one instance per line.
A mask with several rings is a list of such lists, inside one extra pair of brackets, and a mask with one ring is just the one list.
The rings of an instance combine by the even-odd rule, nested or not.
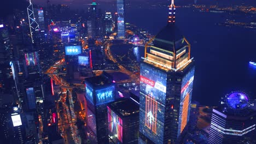
[(125, 20), (124, 20), (124, 0), (117, 0), (117, 13), (118, 13), (118, 38), (125, 38)]

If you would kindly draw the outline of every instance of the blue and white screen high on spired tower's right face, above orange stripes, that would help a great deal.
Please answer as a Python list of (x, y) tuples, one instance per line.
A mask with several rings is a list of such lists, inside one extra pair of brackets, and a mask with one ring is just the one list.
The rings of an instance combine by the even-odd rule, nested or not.
[(181, 88), (181, 101), (185, 98), (185, 96), (192, 91), (193, 82), (194, 82), (194, 73), (195, 67), (193, 67), (187, 75), (185, 75), (182, 79), (182, 88)]

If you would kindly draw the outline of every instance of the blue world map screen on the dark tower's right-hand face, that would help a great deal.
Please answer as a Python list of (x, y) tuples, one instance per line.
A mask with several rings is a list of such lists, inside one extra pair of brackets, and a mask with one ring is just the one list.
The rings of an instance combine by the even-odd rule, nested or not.
[(110, 86), (108, 88), (104, 88), (104, 89), (95, 91), (96, 92), (96, 105), (113, 101), (115, 99), (114, 91), (115, 91), (114, 86)]

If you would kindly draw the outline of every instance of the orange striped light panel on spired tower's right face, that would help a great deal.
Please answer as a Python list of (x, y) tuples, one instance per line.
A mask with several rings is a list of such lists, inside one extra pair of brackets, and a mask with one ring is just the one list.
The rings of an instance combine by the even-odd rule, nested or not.
[(187, 121), (188, 121), (188, 108), (189, 108), (189, 93), (184, 98), (184, 102), (183, 102), (181, 133), (184, 130), (184, 128), (186, 127), (186, 125), (187, 125)]

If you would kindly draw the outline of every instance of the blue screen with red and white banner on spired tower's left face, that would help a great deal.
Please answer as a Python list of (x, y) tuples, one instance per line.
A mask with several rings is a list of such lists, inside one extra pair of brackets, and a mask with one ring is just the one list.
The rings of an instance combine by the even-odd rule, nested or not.
[(167, 74), (141, 63), (141, 92), (165, 104)]

